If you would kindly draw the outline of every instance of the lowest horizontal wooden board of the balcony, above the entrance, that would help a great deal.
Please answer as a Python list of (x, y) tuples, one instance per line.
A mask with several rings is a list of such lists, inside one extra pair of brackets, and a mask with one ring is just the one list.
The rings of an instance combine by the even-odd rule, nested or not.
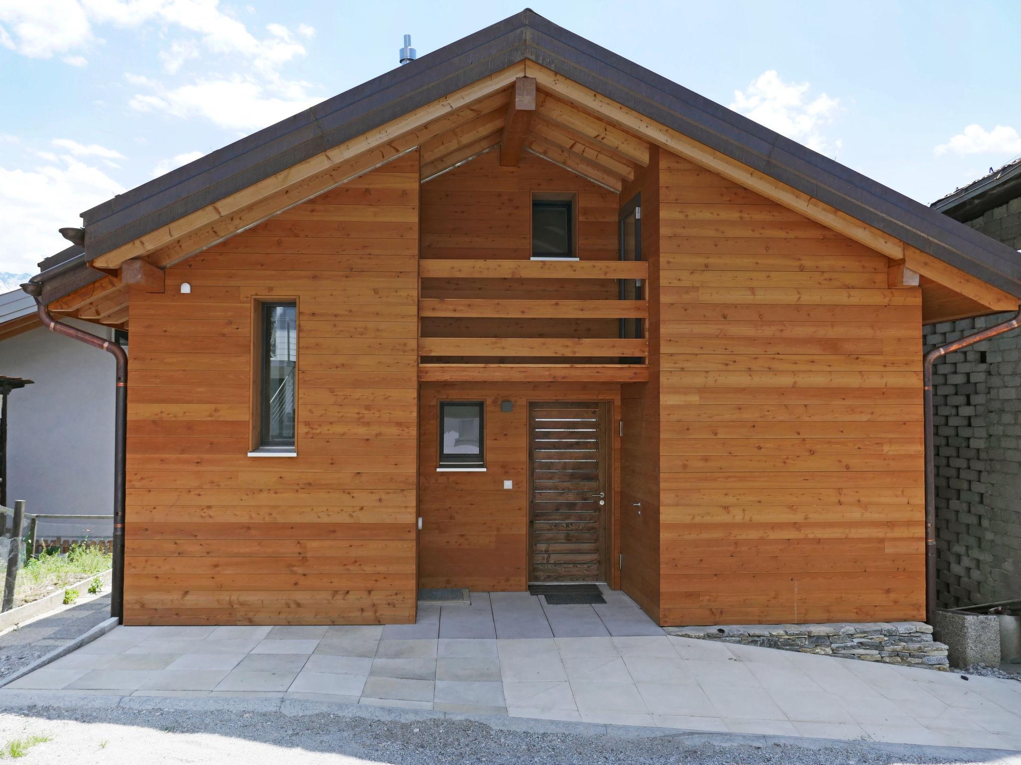
[(419, 379), (439, 382), (522, 380), (530, 382), (644, 382), (644, 364), (422, 364)]

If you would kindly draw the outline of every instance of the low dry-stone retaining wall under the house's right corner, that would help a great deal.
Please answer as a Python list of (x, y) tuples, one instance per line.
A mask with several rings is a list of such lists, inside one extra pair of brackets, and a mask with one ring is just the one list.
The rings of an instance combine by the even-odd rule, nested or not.
[(836, 624), (743, 624), (666, 627), (678, 638), (778, 648), (803, 654), (878, 661), (946, 671), (946, 646), (932, 640), (932, 627), (921, 621)]

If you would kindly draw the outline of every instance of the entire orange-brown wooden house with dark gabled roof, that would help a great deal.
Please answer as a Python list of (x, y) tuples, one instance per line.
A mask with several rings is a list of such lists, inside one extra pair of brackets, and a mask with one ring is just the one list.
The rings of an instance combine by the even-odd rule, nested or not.
[(1021, 296), (1004, 245), (529, 10), (84, 218), (30, 289), (130, 326), (129, 624), (586, 580), (922, 618), (922, 324)]

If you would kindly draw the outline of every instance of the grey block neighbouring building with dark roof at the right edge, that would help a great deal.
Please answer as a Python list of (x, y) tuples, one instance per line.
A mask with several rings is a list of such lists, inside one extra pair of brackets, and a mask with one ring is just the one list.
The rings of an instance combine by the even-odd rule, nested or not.
[[(1021, 249), (1021, 158), (932, 208)], [(928, 325), (925, 344), (955, 340), (1008, 315)], [(1015, 330), (947, 356), (934, 371), (939, 602), (958, 607), (1017, 600), (1021, 334)]]

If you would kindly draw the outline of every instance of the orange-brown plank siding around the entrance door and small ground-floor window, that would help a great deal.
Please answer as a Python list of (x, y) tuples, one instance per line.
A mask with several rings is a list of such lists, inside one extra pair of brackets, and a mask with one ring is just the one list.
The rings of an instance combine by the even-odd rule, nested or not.
[[(420, 586), (467, 586), (481, 592), (527, 588), (529, 401), (610, 402), (614, 461), (609, 520), (612, 540), (618, 540), (620, 388), (618, 384), (606, 382), (423, 382), (419, 441)], [(486, 472), (437, 472), (440, 401), (486, 403)], [(503, 401), (512, 403), (510, 412), (501, 411)], [(513, 489), (503, 489), (507, 479), (514, 481)], [(617, 543), (612, 542), (611, 558), (618, 554), (617, 548)], [(613, 583), (617, 581), (616, 566), (611, 568)]]

